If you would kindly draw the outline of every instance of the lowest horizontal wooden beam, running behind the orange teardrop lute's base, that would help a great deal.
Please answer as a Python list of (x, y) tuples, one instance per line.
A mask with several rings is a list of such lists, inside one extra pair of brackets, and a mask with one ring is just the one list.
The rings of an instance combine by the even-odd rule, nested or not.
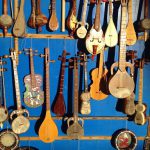
[[(81, 136), (78, 140), (111, 140), (112, 136)], [(137, 140), (144, 140), (145, 137), (138, 136)], [(39, 137), (20, 137), (21, 141), (38, 141)], [(72, 140), (69, 136), (58, 136), (56, 140)]]

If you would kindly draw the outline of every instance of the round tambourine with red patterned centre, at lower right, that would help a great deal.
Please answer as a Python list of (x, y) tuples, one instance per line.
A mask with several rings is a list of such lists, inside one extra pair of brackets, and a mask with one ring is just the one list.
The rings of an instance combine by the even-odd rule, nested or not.
[(114, 144), (117, 150), (134, 150), (137, 146), (137, 137), (127, 129), (121, 129), (116, 132)]

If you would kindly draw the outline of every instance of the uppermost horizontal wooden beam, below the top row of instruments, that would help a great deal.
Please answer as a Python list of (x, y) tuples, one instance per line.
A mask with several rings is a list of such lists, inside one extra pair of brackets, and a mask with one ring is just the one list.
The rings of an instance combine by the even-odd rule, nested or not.
[[(0, 33), (0, 37), (3, 37), (3, 33)], [(13, 37), (11, 33), (7, 33), (5, 37)], [(25, 38), (35, 39), (68, 39), (73, 40), (74, 38), (68, 34), (26, 34)], [(138, 36), (138, 40), (144, 40), (144, 36)]]

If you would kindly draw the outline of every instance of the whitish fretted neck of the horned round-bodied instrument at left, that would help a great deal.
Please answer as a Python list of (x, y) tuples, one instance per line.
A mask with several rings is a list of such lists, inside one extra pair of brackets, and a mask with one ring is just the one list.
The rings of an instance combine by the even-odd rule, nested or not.
[(16, 91), (16, 101), (17, 101), (17, 110), (21, 110), (21, 97), (20, 97), (20, 87), (19, 87), (19, 79), (18, 79), (18, 71), (16, 60), (13, 61), (13, 71), (14, 71), (14, 82), (15, 82), (15, 91)]

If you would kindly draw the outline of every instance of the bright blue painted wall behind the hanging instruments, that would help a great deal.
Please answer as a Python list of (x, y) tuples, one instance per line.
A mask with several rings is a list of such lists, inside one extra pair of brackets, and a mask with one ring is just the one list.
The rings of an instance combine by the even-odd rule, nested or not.
[[(79, 10), (79, 6), (82, 5), (82, 0), (77, 0), (77, 9)], [(46, 30), (46, 27), (42, 27), (42, 34), (68, 34), (68, 31), (61, 32), (61, 1), (57, 1), (57, 17), (59, 19), (59, 29), (55, 32), (48, 32)], [(49, 10), (48, 10), (49, 0), (43, 0), (41, 1), (41, 9), (42, 12), (48, 17), (49, 16)], [(133, 2), (133, 20), (137, 20), (137, 13), (138, 13), (138, 5), (139, 0), (136, 0)], [(66, 16), (68, 15), (70, 7), (70, 2), (66, 1)], [(89, 5), (88, 5), (89, 8)], [(101, 5), (101, 24), (103, 24), (104, 20), (104, 8), (105, 4), (102, 3)], [(2, 10), (2, 0), (0, 0), (0, 10)], [(30, 6), (30, 0), (25, 0), (25, 17), (26, 20), (28, 20), (30, 16), (31, 6)], [(10, 11), (9, 11), (10, 12)], [(77, 11), (78, 13), (78, 19), (80, 19), (80, 13), (81, 10)], [(88, 11), (87, 11), (88, 12)], [(2, 11), (0, 11), (0, 14)], [(92, 20), (94, 19), (95, 14), (95, 7), (93, 9), (92, 13)], [(88, 14), (89, 15), (89, 14)], [(117, 17), (117, 16), (115, 16)], [(141, 18), (143, 18), (143, 12), (141, 13)], [(120, 30), (120, 9), (118, 13), (118, 26), (117, 30)], [(2, 32), (2, 30), (1, 30)], [(9, 29), (9, 32), (11, 32), (11, 29)], [(29, 27), (26, 27), (27, 33), (36, 33), (34, 29), (31, 29)], [(142, 34), (142, 33), (140, 33)], [(139, 34), (139, 35), (140, 35)], [(78, 51), (77, 44), (80, 43), (80, 41), (76, 40), (66, 40), (66, 39), (28, 39), (23, 38), (19, 39), (19, 50), (22, 50), (23, 48), (30, 48), (32, 46), (33, 49), (37, 49), (39, 53), (44, 53), (44, 48), (49, 47), (50, 48), (50, 57), (51, 59), (55, 60), (55, 63), (50, 64), (50, 88), (51, 88), (51, 104), (54, 100), (54, 97), (57, 92), (57, 86), (58, 86), (58, 78), (59, 78), (59, 71), (60, 71), (60, 64), (61, 62), (58, 61), (58, 56), (62, 54), (62, 51), (64, 49), (67, 50), (67, 52), (70, 52), (70, 57), (74, 56), (76, 52)], [(13, 38), (0, 38), (0, 55), (9, 54), (9, 48), (13, 47)], [(145, 43), (144, 41), (137, 41), (137, 43), (134, 46), (127, 47), (127, 50), (136, 50), (138, 58), (141, 58), (144, 49), (145, 49)], [(109, 62), (108, 60), (108, 53), (111, 51), (111, 49), (107, 49), (105, 51), (105, 60)], [(118, 59), (118, 46), (115, 48), (115, 61)], [(23, 97), (23, 92), (25, 91), (25, 86), (23, 83), (23, 78), (25, 75), (29, 74), (29, 61), (28, 56), (21, 54), (19, 56), (19, 66), (18, 66), (18, 74), (19, 74), (19, 82), (20, 82), (20, 91), (21, 91), (21, 97)], [(43, 76), (43, 64), (44, 61), (42, 58), (35, 56), (34, 58), (34, 64), (35, 64), (35, 72), (37, 74), (41, 74)], [(11, 112), (13, 109), (11, 106), (14, 106), (15, 101), (15, 95), (14, 95), (14, 86), (13, 86), (13, 78), (12, 78), (12, 67), (11, 67), (11, 60), (7, 59), (7, 65), (5, 65), (8, 69), (7, 72), (5, 72), (5, 86), (6, 86), (6, 99), (7, 99), (7, 107), (9, 108), (9, 112)], [(91, 69), (96, 67), (96, 58), (94, 61), (88, 62), (88, 72), (89, 72), (89, 79), (88, 84), (91, 83), (90, 79), (90, 71)], [(150, 89), (150, 80), (149, 80), (149, 74), (150, 74), (150, 64), (145, 65), (144, 68), (144, 89), (143, 89), (143, 101), (147, 104), (147, 115), (149, 110), (149, 89)], [(64, 96), (66, 105), (68, 104), (68, 101), (72, 100), (72, 97), (68, 97), (68, 69), (65, 70), (65, 85), (64, 85)], [(136, 100), (138, 99), (138, 76), (136, 81)], [(116, 105), (118, 100), (114, 98), (113, 96), (109, 95), (107, 99), (102, 101), (94, 101), (91, 99), (91, 109), (92, 112), (89, 116), (126, 116), (122, 112), (119, 112), (116, 110)], [(22, 105), (25, 106), (24, 102), (22, 101)], [(26, 109), (29, 110), (30, 116), (40, 116), (42, 107), (31, 109), (27, 106), (25, 106)], [(71, 106), (67, 106), (71, 107)], [(69, 110), (69, 109), (68, 109)], [(67, 110), (67, 111), (68, 111)], [(52, 113), (53, 116), (55, 114)], [(58, 129), (59, 129), (59, 135), (64, 136), (65, 133), (61, 130), (62, 121), (56, 121)], [(36, 121), (31, 121), (30, 129), (20, 135), (20, 136), (37, 136), (35, 132), (35, 124)], [(5, 123), (5, 127), (9, 128), (9, 124)], [(146, 127), (147, 123), (143, 126), (136, 125), (133, 121), (111, 121), (111, 120), (99, 120), (99, 121), (85, 121), (84, 124), (84, 131), (85, 136), (111, 136), (116, 130), (121, 128), (128, 128), (129, 130), (133, 131), (136, 136), (145, 136), (146, 135)], [(51, 149), (51, 150), (59, 150), (59, 149), (65, 149), (65, 150), (113, 150), (114, 148), (111, 145), (111, 142), (109, 140), (62, 140), (62, 141), (55, 141), (52, 144), (45, 144), (42, 141), (20, 141), (20, 146), (35, 146), (39, 150), (45, 149)], [(138, 141), (137, 150), (141, 150), (143, 147), (143, 141)]]

